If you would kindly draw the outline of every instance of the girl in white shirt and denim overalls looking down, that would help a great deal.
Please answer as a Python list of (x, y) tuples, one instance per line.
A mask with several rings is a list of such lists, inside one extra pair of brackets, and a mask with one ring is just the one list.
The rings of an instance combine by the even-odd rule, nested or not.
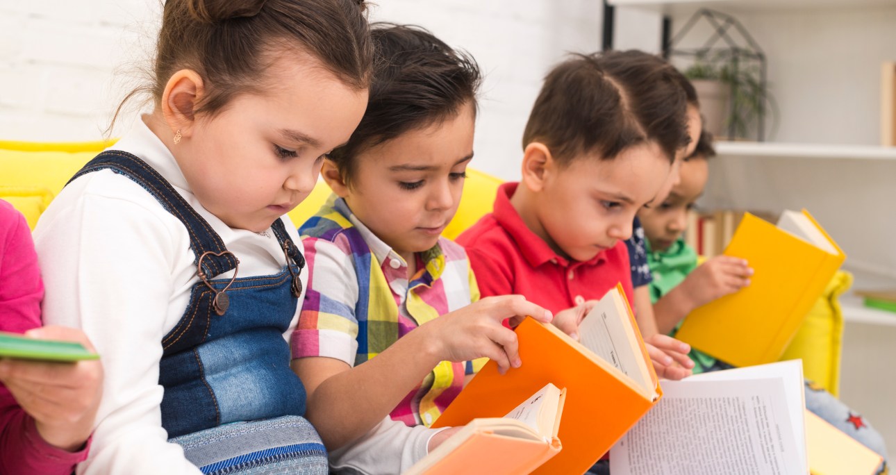
[(151, 113), (35, 230), (47, 322), (106, 363), (79, 470), (326, 473), (289, 368), (306, 269), (280, 217), (364, 113), (363, 2), (168, 0), (157, 46)]

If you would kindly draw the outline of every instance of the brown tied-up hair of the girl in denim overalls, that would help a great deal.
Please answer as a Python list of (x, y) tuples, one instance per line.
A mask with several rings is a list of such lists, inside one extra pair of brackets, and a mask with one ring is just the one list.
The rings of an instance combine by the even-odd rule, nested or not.
[(366, 89), (373, 49), (365, 2), (167, 0), (152, 83), (132, 91), (122, 105), (146, 91), (158, 103), (171, 75), (192, 69), (206, 91), (193, 112), (213, 115), (235, 95), (260, 91), (256, 79), (270, 65), (265, 53), (282, 47), (300, 48), (341, 82)]

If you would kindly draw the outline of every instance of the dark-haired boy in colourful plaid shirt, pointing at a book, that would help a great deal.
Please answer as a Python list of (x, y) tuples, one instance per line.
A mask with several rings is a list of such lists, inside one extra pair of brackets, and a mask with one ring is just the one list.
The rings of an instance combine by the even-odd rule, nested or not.
[(426, 30), (373, 37), (370, 104), (323, 166), (336, 197), (300, 229), (310, 274), (292, 354), (332, 468), (385, 474), (452, 433), (427, 427), (470, 360), (525, 364), (505, 318), (551, 315), (519, 296), (477, 302), (466, 254), (440, 238), (473, 157), (477, 65)]

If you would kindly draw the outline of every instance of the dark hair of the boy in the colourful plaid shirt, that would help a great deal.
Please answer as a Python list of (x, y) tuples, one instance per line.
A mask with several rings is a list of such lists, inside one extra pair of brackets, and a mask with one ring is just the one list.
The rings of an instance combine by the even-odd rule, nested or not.
[(476, 113), (481, 74), (476, 60), (413, 25), (371, 25), (374, 77), (367, 109), (349, 142), (330, 160), (350, 184), (361, 151), (410, 130), (452, 118), (465, 104)]

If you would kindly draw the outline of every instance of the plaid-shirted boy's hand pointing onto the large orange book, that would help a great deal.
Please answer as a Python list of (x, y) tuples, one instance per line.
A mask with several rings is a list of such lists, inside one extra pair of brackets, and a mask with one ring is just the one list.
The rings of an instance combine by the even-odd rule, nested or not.
[(478, 302), (442, 315), (420, 326), (426, 328), (428, 340), (440, 360), (467, 361), (487, 357), (495, 360), (504, 374), (510, 367), (520, 367), (516, 333), (501, 324), (510, 318), (519, 324), (527, 315), (549, 324), (553, 315), (520, 295), (483, 298)]

